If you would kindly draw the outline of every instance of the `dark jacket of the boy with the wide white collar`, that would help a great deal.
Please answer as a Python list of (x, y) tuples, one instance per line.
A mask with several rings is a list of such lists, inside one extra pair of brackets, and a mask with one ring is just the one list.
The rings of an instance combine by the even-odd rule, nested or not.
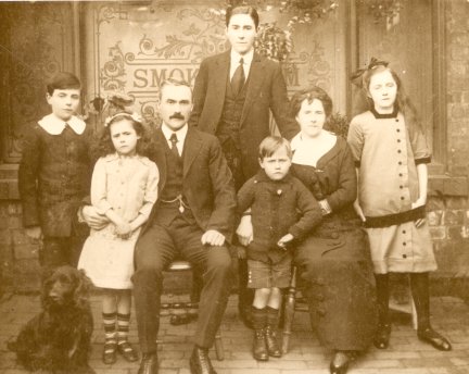
[(80, 135), (71, 128), (51, 135), (39, 124), (26, 132), (18, 170), (25, 227), (40, 226), (45, 236), (73, 233), (77, 209), (90, 190), (90, 126)]

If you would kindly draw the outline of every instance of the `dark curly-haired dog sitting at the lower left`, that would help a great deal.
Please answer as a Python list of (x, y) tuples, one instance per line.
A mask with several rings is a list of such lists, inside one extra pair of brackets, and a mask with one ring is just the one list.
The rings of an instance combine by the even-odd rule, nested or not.
[(9, 348), (29, 371), (94, 373), (88, 365), (93, 329), (90, 279), (72, 266), (55, 269), (42, 286), (42, 312), (31, 319)]

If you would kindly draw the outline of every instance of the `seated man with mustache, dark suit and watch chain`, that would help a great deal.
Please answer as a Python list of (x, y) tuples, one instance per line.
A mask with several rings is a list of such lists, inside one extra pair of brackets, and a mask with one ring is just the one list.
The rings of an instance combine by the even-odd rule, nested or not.
[[(236, 192), (231, 172), (213, 135), (188, 126), (192, 91), (186, 82), (167, 79), (160, 87), (162, 127), (155, 134), (160, 171), (159, 199), (142, 228), (135, 251), (134, 297), (143, 353), (138, 374), (159, 372), (156, 335), (160, 326), (162, 272), (180, 255), (203, 274), (192, 374), (216, 374), (208, 349), (221, 322), (231, 288), (231, 240)], [(96, 214), (84, 209), (90, 225)]]

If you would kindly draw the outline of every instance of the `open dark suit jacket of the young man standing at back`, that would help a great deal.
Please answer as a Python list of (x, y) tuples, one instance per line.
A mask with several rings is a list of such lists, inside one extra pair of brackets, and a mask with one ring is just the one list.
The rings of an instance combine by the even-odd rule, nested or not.
[[(216, 134), (225, 103), (229, 68), (230, 51), (202, 61), (195, 78), (190, 125)], [(300, 128), (288, 113), (287, 86), (277, 62), (254, 53), (246, 82), (249, 86), (241, 114), (240, 140), (243, 172), (250, 177), (258, 170), (258, 145), (270, 135), (269, 109), (283, 137), (291, 139)]]

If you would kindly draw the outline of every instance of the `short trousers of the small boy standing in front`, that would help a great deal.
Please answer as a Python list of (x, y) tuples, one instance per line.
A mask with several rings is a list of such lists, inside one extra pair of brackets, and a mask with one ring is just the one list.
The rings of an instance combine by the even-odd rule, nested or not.
[(248, 260), (248, 288), (287, 288), (290, 285), (292, 258), (278, 263)]

